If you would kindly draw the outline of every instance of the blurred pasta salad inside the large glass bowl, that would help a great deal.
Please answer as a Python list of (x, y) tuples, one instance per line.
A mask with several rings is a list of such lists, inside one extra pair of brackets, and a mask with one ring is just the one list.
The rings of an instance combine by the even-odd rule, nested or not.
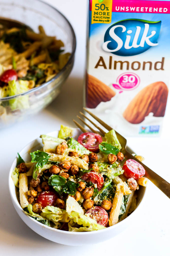
[[(47, 36), (42, 26), (38, 29), (39, 33), (34, 33), (27, 27), (0, 24), (0, 98), (40, 86), (68, 62), (70, 53), (63, 53), (64, 43)], [(11, 109), (15, 109), (14, 103)]]

